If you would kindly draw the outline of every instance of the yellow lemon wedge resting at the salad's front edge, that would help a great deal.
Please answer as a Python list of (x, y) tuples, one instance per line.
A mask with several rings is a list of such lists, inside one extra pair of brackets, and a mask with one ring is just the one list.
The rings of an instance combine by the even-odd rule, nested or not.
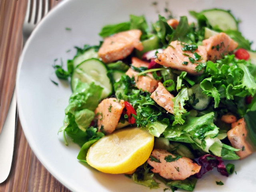
[(126, 128), (104, 136), (88, 150), (86, 161), (104, 173), (132, 173), (149, 158), (154, 136), (140, 128)]

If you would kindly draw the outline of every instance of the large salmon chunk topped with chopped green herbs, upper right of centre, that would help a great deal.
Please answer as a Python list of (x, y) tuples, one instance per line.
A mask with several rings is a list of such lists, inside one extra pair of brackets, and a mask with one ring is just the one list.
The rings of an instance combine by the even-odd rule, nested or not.
[(199, 75), (200, 73), (196, 72), (196, 66), (198, 62), (206, 62), (207, 52), (204, 46), (198, 46), (198, 49), (195, 52), (201, 56), (201, 58), (194, 63), (190, 62), (189, 58), (194, 59), (194, 53), (190, 51), (182, 51), (184, 46), (179, 41), (172, 41), (170, 46), (168, 46), (163, 53), (157, 53), (156, 63), (178, 69), (180, 71), (186, 71), (192, 75)]

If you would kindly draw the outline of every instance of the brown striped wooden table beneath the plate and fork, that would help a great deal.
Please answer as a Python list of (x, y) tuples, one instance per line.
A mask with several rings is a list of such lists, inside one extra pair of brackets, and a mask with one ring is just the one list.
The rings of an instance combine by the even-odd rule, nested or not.
[[(8, 63), (8, 67), (17, 67), (22, 51), (22, 23), (26, 14), (26, 3), (26, 0), (0, 0), (0, 67), (3, 66), (3, 63)], [(58, 0), (50, 0), (51, 8), (56, 4), (58, 4)], [(12, 55), (8, 54), (10, 51)], [(5, 76), (1, 76), (2, 71), (4, 70), (0, 68), (0, 91), (2, 90), (0, 104), (1, 107), (6, 107), (10, 103), (14, 88), (15, 75), (13, 74), (16, 73), (16, 69)], [(7, 73), (8, 70), (5, 72)], [(6, 83), (3, 84), (3, 82)], [(0, 115), (2, 116), (4, 113), (2, 112)], [(70, 192), (36, 158), (18, 121), (12, 170), (8, 179), (0, 184), (0, 192), (42, 191)]]

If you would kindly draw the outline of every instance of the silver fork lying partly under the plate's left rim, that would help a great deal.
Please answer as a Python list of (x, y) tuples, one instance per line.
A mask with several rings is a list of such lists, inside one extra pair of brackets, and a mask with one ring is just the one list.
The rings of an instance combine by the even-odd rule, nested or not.
[[(26, 16), (22, 27), (23, 47), (38, 22), (47, 14), (49, 9), (49, 0), (28, 0)], [(14, 90), (10, 108), (0, 135), (0, 183), (8, 178), (12, 168), (17, 117), (16, 90)]]

